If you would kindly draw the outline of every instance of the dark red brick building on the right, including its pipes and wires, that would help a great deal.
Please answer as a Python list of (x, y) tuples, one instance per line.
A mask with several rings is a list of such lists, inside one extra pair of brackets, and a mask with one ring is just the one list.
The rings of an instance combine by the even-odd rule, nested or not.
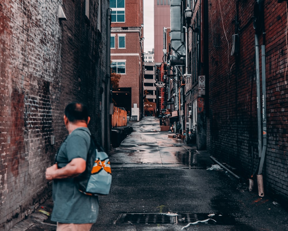
[[(185, 19), (187, 1), (182, 4)], [(193, 15), (187, 26), (191, 77), (185, 83), (185, 118), (189, 110), (197, 118), (198, 147), (244, 178), (253, 175), (255, 183), (262, 175), (265, 193), (287, 201), (287, 2), (188, 4)], [(200, 75), (206, 78), (204, 94)]]

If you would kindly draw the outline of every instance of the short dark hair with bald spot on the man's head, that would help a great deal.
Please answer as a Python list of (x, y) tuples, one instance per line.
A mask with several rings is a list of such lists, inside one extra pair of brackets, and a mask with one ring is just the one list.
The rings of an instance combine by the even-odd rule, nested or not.
[(65, 116), (72, 123), (77, 120), (84, 120), (88, 122), (88, 107), (80, 102), (69, 103), (65, 108)]

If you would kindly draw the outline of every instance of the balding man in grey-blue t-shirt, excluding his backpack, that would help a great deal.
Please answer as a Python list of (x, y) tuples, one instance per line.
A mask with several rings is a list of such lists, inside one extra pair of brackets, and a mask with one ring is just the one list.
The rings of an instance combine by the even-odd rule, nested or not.
[(89, 231), (98, 216), (98, 197), (81, 193), (73, 180), (86, 168), (89, 121), (85, 105), (79, 102), (67, 105), (64, 123), (69, 135), (60, 146), (55, 164), (46, 169), (46, 179), (53, 180), (51, 220), (57, 221), (57, 231)]

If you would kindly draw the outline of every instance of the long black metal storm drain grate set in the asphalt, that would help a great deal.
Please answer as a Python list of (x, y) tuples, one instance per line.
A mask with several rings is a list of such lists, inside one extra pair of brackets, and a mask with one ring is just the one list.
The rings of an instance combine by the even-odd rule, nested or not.
[(235, 224), (234, 217), (214, 213), (122, 213), (117, 224), (188, 224), (204, 220), (208, 224)]

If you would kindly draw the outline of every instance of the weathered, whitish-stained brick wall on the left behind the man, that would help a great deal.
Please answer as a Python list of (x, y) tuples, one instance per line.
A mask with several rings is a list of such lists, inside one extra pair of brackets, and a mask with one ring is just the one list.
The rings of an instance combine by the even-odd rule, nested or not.
[[(45, 169), (67, 134), (63, 111), (82, 100), (91, 130), (101, 137), (100, 87), (106, 75), (106, 9), (102, 1), (0, 3), (0, 229), (31, 213), (51, 190)], [(55, 137), (55, 144), (52, 143)]]

